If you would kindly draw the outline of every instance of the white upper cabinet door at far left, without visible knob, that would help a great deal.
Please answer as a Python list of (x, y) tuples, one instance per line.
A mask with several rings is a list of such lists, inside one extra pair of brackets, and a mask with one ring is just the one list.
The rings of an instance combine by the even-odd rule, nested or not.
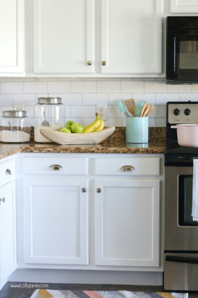
[(0, 1), (0, 76), (23, 74), (24, 0)]

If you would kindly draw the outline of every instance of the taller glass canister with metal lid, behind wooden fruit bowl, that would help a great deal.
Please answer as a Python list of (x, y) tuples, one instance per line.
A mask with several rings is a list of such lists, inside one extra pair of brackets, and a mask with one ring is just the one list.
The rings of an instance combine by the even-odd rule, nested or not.
[(60, 131), (65, 125), (65, 105), (61, 97), (39, 97), (34, 107), (34, 141), (38, 143), (51, 143), (40, 133), (40, 129)]

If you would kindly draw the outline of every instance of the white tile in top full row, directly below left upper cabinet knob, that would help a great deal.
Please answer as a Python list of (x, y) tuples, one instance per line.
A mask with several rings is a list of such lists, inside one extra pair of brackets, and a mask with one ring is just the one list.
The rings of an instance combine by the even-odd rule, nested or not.
[(96, 81), (71, 82), (71, 93), (96, 93)]

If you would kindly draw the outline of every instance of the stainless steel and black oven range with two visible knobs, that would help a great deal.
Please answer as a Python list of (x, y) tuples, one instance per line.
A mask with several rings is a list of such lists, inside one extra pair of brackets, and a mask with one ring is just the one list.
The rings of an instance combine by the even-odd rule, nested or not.
[[(191, 113), (184, 115), (186, 108)], [(177, 115), (174, 111), (177, 109)], [(178, 112), (179, 111), (179, 112)], [(198, 120), (198, 102), (167, 103), (165, 148), (164, 289), (198, 291), (198, 222), (193, 221), (193, 159), (198, 148), (180, 147), (172, 124)]]

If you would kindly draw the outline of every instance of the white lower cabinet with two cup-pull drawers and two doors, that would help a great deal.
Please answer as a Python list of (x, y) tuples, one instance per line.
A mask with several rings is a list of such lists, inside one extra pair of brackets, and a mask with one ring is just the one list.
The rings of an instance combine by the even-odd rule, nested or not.
[(162, 155), (24, 153), (18, 164), (20, 267), (163, 271)]

